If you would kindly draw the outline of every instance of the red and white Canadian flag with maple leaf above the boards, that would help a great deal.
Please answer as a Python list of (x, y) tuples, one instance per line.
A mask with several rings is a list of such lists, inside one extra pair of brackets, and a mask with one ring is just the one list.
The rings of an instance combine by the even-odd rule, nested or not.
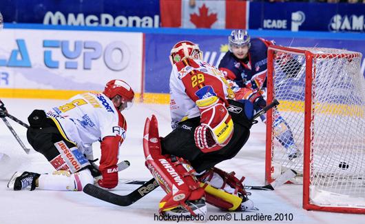
[(160, 0), (163, 27), (247, 29), (249, 1)]

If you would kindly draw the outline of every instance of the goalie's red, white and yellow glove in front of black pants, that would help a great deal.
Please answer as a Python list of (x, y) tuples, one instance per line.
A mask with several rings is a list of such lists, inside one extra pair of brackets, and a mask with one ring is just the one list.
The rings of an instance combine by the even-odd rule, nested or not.
[(202, 152), (213, 152), (227, 145), (233, 136), (233, 121), (224, 102), (217, 96), (199, 99), (200, 125), (194, 132), (196, 146)]

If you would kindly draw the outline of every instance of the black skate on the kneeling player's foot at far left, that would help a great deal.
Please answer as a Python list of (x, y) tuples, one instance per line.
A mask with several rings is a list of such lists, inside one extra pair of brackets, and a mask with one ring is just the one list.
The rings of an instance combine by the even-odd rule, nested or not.
[(30, 186), (30, 190), (34, 190), (36, 188), (36, 179), (38, 179), (39, 176), (41, 176), (41, 174), (26, 171), (23, 173), (15, 172), (8, 183), (8, 188), (23, 190)]

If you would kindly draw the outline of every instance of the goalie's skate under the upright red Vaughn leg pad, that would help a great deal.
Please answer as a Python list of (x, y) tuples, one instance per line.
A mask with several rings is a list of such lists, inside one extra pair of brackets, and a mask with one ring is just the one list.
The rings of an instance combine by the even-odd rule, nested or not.
[[(196, 214), (196, 216), (206, 216), (207, 205), (205, 204), (205, 198), (200, 198), (196, 201), (186, 201), (187, 206)], [(186, 207), (178, 206), (172, 210), (163, 212), (167, 216), (191, 216), (191, 212)]]

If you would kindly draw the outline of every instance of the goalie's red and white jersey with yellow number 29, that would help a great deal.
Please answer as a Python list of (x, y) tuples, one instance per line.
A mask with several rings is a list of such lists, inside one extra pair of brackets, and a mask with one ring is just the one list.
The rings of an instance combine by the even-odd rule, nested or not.
[(224, 75), (204, 61), (185, 59), (174, 64), (169, 81), (171, 128), (180, 121), (200, 116), (196, 100), (216, 95), (233, 99)]

